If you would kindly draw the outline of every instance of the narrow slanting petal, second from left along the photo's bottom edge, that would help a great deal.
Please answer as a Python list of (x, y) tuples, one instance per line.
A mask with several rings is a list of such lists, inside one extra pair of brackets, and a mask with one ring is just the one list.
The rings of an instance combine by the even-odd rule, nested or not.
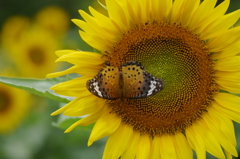
[(121, 156), (121, 159), (130, 159), (135, 158), (137, 146), (139, 145), (140, 133), (138, 131), (133, 131), (133, 138), (130, 146), (126, 150), (126, 152)]

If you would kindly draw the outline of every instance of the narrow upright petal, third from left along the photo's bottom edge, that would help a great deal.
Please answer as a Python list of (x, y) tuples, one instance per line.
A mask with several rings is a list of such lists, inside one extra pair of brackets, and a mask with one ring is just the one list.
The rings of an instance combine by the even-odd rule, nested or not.
[(140, 136), (138, 143), (138, 150), (136, 159), (149, 159), (150, 155), (150, 138), (148, 134), (143, 134)]

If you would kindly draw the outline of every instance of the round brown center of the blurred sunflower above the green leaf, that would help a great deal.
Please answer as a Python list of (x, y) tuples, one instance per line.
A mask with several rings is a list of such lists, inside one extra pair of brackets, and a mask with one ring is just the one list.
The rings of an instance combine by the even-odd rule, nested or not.
[(28, 50), (30, 60), (36, 65), (42, 65), (45, 61), (44, 50), (39, 47), (32, 47)]

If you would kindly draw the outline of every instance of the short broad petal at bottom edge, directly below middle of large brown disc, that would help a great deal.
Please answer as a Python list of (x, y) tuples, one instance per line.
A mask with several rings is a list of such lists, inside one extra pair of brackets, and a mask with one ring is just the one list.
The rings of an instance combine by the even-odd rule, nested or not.
[(177, 159), (177, 152), (175, 150), (174, 142), (171, 135), (162, 135), (160, 141), (160, 155), (161, 158)]

